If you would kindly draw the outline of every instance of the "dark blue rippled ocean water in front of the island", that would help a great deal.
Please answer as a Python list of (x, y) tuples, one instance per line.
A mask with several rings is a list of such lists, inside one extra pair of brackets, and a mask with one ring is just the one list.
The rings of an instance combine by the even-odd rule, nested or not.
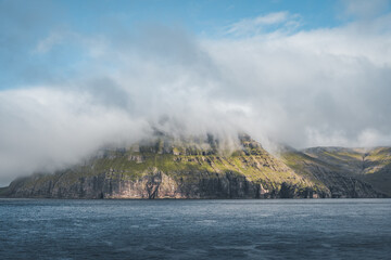
[(391, 259), (391, 199), (0, 199), (0, 259)]

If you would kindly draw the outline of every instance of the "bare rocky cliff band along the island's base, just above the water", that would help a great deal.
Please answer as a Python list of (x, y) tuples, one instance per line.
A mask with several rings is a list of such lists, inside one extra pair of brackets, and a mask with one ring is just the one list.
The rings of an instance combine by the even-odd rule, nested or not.
[[(48, 178), (37, 176), (39, 178)], [(60, 176), (56, 176), (60, 179)], [(55, 179), (51, 177), (50, 179)], [(63, 177), (64, 179), (64, 177)], [(131, 180), (121, 173), (101, 173), (79, 178), (70, 184), (52, 180), (30, 187), (26, 180), (14, 182), (8, 190), (10, 197), (51, 198), (292, 198), (327, 196), (313, 187), (299, 188), (283, 182), (266, 190), (261, 183), (231, 172), (224, 174), (194, 172), (192, 180), (174, 180), (159, 170)]]

